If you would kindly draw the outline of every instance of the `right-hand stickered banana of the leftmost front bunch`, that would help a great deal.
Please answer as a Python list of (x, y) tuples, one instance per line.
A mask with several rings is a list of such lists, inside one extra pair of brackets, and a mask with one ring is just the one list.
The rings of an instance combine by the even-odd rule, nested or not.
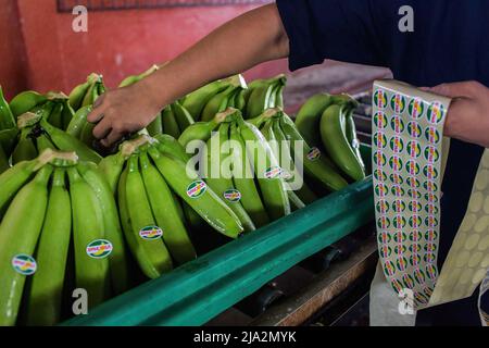
[[(101, 303), (109, 289), (110, 246), (96, 192), (76, 167), (67, 170), (73, 215), (76, 286), (88, 293), (88, 308)], [(93, 249), (91, 249), (93, 248)]]

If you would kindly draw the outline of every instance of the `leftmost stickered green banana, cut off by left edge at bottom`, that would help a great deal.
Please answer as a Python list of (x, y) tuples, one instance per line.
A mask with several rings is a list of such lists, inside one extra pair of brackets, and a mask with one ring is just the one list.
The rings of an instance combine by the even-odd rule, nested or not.
[(51, 165), (43, 166), (18, 191), (0, 225), (0, 326), (15, 324), (26, 275), (35, 271), (32, 256), (45, 221), (51, 173)]

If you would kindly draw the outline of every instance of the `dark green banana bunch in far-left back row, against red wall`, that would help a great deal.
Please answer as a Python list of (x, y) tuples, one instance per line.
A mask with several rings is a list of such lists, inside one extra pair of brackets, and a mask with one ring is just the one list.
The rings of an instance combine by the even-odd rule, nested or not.
[(15, 121), (20, 115), (32, 112), (41, 114), (46, 121), (60, 129), (66, 129), (75, 114), (68, 97), (61, 91), (49, 91), (46, 95), (34, 90), (23, 91), (11, 100), (10, 109)]

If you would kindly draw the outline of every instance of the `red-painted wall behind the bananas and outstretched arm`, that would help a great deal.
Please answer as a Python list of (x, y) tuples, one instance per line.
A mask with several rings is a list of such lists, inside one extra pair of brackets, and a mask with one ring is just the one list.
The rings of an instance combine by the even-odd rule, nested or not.
[[(126, 75), (174, 58), (216, 26), (251, 9), (234, 5), (89, 12), (88, 33), (74, 33), (74, 16), (58, 13), (55, 0), (17, 0), (17, 4), (27, 63), (25, 70), (20, 64), (5, 69), (2, 64), (0, 82), (7, 80), (5, 88), (18, 89), (27, 84), (41, 92), (68, 92), (91, 72), (103, 74), (108, 86), (115, 87)], [(4, 12), (1, 8), (0, 23)], [(0, 57), (12, 45), (0, 46)], [(22, 51), (16, 54), (22, 57)], [(14, 58), (14, 63), (20, 61)], [(266, 63), (247, 76), (273, 75), (286, 69), (285, 61)], [(28, 78), (23, 82), (24, 72)]]

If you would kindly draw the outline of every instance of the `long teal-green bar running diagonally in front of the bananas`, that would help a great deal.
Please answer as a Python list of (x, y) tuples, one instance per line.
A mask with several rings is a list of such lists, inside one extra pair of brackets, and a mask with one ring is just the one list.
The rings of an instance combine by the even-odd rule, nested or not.
[(202, 325), (373, 219), (368, 176), (63, 325)]

